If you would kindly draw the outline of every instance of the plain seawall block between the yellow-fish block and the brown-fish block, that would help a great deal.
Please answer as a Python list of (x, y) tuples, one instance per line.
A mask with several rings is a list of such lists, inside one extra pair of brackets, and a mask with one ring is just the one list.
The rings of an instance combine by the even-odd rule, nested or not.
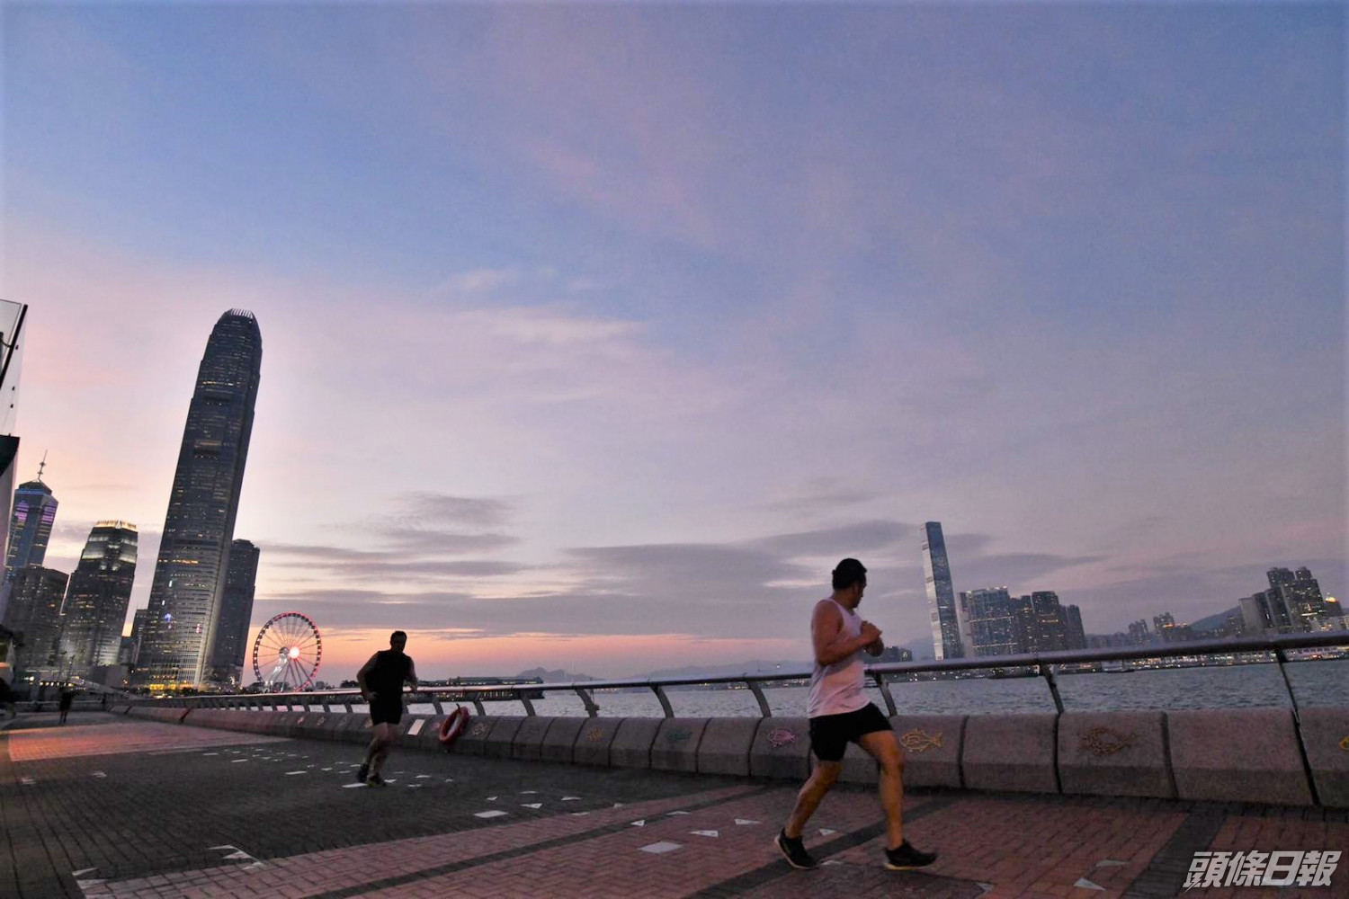
[(1056, 714), (971, 714), (960, 774), (974, 790), (1058, 793)]

